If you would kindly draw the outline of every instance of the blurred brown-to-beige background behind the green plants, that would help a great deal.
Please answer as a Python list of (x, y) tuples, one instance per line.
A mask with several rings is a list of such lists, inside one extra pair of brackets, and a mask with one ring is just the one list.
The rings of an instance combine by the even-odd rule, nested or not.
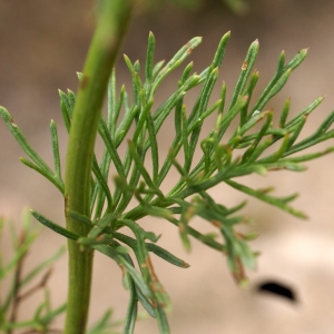
[[(0, 105), (11, 112), (31, 146), (50, 165), (51, 118), (58, 124), (63, 158), (66, 153), (67, 134), (61, 121), (58, 89), (77, 89), (76, 71), (82, 69), (94, 30), (94, 4), (92, 0), (0, 0)], [(310, 47), (305, 62), (267, 106), (279, 111), (284, 100), (292, 97), (291, 110), (296, 114), (316, 97), (326, 95), (325, 101), (308, 119), (303, 134), (307, 136), (307, 131), (314, 131), (334, 107), (334, 3), (330, 0), (249, 0), (247, 4), (248, 10), (236, 12), (219, 0), (198, 1), (198, 7), (193, 10), (170, 1), (141, 0), (122, 51), (132, 61), (139, 59), (144, 63), (148, 32), (153, 31), (157, 41), (156, 61), (168, 60), (190, 38), (202, 36), (203, 43), (188, 60), (195, 62), (195, 70), (199, 72), (210, 63), (222, 36), (230, 30), (232, 39), (219, 75), (230, 96), (247, 48), (255, 39), (261, 45), (256, 63), (261, 75), (257, 92), (273, 76), (283, 49), (289, 60), (299, 49)], [(130, 78), (121, 57), (117, 75), (118, 87), (124, 82), (129, 87)], [(157, 101), (176, 88), (179, 78), (176, 76), (179, 75), (180, 70), (167, 78)], [(191, 105), (191, 96), (187, 104)], [(208, 124), (207, 128), (212, 126)], [(161, 136), (170, 136), (168, 127)], [(19, 222), (22, 208), (28, 206), (63, 224), (60, 194), (19, 163), (18, 157), (23, 154), (2, 121), (0, 143), (1, 215)], [(167, 151), (168, 145), (163, 149)], [(253, 248), (262, 256), (256, 272), (249, 273), (250, 284), (246, 291), (234, 284), (220, 254), (196, 242), (193, 252), (185, 254), (177, 230), (168, 223), (156, 219), (143, 223), (163, 233), (160, 245), (191, 265), (180, 269), (154, 262), (174, 303), (169, 316), (173, 333), (334, 332), (333, 156), (307, 166), (308, 170), (302, 174), (277, 171), (248, 180), (256, 187), (275, 185), (277, 195), (301, 193), (294, 206), (304, 209), (310, 219), (302, 222), (249, 199), (244, 212), (256, 222), (254, 229), (261, 236), (253, 243)], [(217, 187), (213, 194), (226, 205), (245, 199), (228, 188)], [(51, 255), (62, 244), (65, 240), (60, 236), (43, 229), (27, 258), (26, 268)], [(1, 247), (7, 250), (9, 243), (4, 240)], [(122, 289), (119, 268), (99, 254), (95, 266), (90, 323), (110, 306), (115, 308), (115, 320), (121, 318), (128, 293)], [(298, 302), (257, 293), (256, 286), (266, 279), (291, 286)], [(55, 306), (65, 301), (66, 285), (67, 259), (63, 257), (50, 279)], [(33, 303), (22, 305), (22, 318), (31, 312)], [(136, 333), (154, 334), (158, 330), (154, 321), (146, 320), (138, 323)]]

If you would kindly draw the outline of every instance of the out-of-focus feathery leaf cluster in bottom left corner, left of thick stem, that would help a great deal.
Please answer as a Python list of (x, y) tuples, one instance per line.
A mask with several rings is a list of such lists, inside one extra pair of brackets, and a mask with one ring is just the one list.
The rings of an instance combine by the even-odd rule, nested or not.
[[(29, 333), (56, 333), (57, 330), (52, 327), (53, 320), (66, 311), (66, 304), (56, 308), (51, 306), (50, 294), (47, 288), (48, 278), (51, 274), (52, 264), (65, 253), (65, 247), (61, 247), (56, 254), (48, 259), (41, 262), (36, 267), (30, 268), (28, 273), (23, 271), (23, 264), (28, 252), (30, 250), (38, 230), (31, 223), (29, 213), (24, 213), (22, 219), (22, 229), (18, 235), (14, 224), (12, 222), (4, 222), (0, 219), (0, 237), (3, 238), (4, 225), (10, 227), (12, 256), (8, 263), (0, 261), (0, 284), (4, 281), (10, 281), (10, 288), (3, 293), (0, 298), (0, 332), (13, 333), (17, 330), (26, 328)], [(42, 273), (40, 282), (27, 287), (31, 282)], [(27, 299), (38, 291), (43, 289), (43, 301), (38, 305), (33, 316), (30, 320), (21, 321), (18, 317), (19, 308), (27, 306)], [(60, 332), (59, 332), (60, 333)]]

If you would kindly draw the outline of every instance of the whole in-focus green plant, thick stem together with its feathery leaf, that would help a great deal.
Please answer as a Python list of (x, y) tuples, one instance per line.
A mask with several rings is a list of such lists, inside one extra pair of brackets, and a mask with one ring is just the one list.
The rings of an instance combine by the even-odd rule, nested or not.
[[(131, 1), (101, 1), (101, 6), (84, 72), (79, 73), (78, 94), (76, 96), (70, 90), (68, 94), (59, 92), (62, 117), (69, 132), (65, 181), (56, 124), (51, 121), (50, 125), (53, 171), (30, 147), (10, 114), (2, 107), (0, 115), (30, 158), (21, 158), (21, 161), (48, 178), (65, 197), (66, 228), (31, 210), (41, 224), (68, 238), (69, 295), (65, 333), (85, 332), (94, 250), (110, 257), (122, 269), (124, 283), (130, 293), (122, 332), (134, 332), (137, 304), (140, 302), (148, 314), (157, 318), (160, 333), (169, 333), (166, 312), (170, 302), (154, 273), (149, 254), (154, 253), (179, 267), (188, 265), (159, 247), (158, 237), (145, 230), (139, 224), (140, 219), (155, 216), (177, 226), (187, 250), (190, 249), (190, 237), (194, 237), (224, 253), (234, 278), (244, 285), (244, 267), (254, 268), (256, 261), (256, 253), (248, 246), (254, 234), (243, 235), (235, 229), (236, 225), (247, 223), (239, 214), (245, 203), (227, 208), (216, 203), (208, 190), (225, 183), (305, 218), (302, 212), (289, 204), (296, 195), (275, 197), (271, 194), (272, 188), (253, 189), (235, 179), (254, 173), (266, 175), (278, 169), (301, 171), (305, 169), (302, 163), (333, 151), (334, 147), (331, 147), (324, 151), (293, 156), (334, 137), (334, 130), (330, 129), (334, 112), (326, 117), (314, 134), (298, 141), (307, 116), (322, 102), (323, 97), (314, 100), (291, 120), (287, 120), (287, 99), (278, 125), (274, 126), (274, 111), (266, 110), (265, 107), (284, 87), (291, 72), (305, 59), (307, 50), (301, 50), (287, 63), (282, 52), (273, 79), (259, 97), (252, 101), (258, 80), (258, 72), (253, 71), (258, 53), (257, 40), (248, 49), (228, 105), (225, 84), (219, 99), (212, 104), (210, 97), (224, 60), (229, 32), (222, 38), (212, 65), (199, 75), (191, 73), (193, 62), (186, 66), (176, 91), (159, 106), (154, 101), (159, 85), (200, 43), (200, 38), (187, 42), (164, 66), (163, 61), (154, 63), (155, 38), (149, 33), (143, 71), (139, 61), (131, 62), (125, 56), (132, 77), (132, 97), (129, 97), (122, 86), (117, 98), (116, 72), (111, 69), (125, 35)], [(195, 87), (200, 87), (198, 97), (194, 106), (187, 109), (184, 96)], [(108, 110), (105, 117), (101, 108), (107, 90)], [(203, 134), (204, 120), (214, 114), (215, 126), (208, 134)], [(169, 116), (174, 117), (175, 138), (169, 153), (161, 157), (157, 134)], [(230, 132), (227, 129), (233, 127), (233, 121), (238, 124), (233, 128), (232, 135), (228, 135)], [(97, 134), (105, 145), (100, 161), (94, 154)], [(126, 139), (128, 146), (121, 158), (119, 147)], [(202, 158), (195, 163), (194, 156), (199, 147)], [(109, 185), (109, 170), (112, 166), (117, 175), (114, 176), (112, 185)], [(148, 168), (151, 168), (151, 173)], [(179, 179), (164, 194), (161, 183), (173, 168), (179, 173)], [(137, 206), (128, 209), (132, 199), (137, 200)], [(216, 232), (200, 234), (190, 226), (194, 216), (207, 220)], [(132, 237), (126, 232), (130, 232)], [(135, 263), (139, 269), (136, 269)]]

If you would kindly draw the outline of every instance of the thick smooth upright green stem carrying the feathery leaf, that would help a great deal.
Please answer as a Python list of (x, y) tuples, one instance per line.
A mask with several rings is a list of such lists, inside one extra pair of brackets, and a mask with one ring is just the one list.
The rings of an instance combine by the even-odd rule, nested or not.
[[(89, 228), (72, 219), (68, 212), (90, 216), (91, 163), (100, 111), (111, 68), (115, 65), (132, 0), (101, 1), (100, 17), (80, 80), (67, 150), (65, 214), (67, 229), (86, 236)], [(85, 333), (92, 272), (92, 250), (81, 252), (73, 240), (69, 248), (69, 291), (66, 334)]]

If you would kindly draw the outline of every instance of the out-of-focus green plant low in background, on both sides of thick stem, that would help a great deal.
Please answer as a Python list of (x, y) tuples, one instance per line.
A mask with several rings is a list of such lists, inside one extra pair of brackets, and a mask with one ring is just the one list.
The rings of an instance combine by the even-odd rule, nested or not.
[[(1, 293), (0, 332), (11, 334), (24, 330), (21, 333), (63, 333), (62, 330), (55, 326), (53, 322), (65, 313), (66, 303), (56, 308), (52, 307), (48, 284), (53, 272), (52, 266), (65, 254), (66, 248), (61, 247), (49, 258), (33, 268), (29, 267), (29, 271), (26, 272), (26, 261), (41, 228), (37, 228), (36, 224), (31, 222), (30, 213), (24, 210), (20, 234), (18, 234), (13, 222), (7, 222), (0, 217), (1, 244), (7, 238), (7, 229), (10, 233), (12, 255), (6, 263), (3, 258), (0, 258), (1, 291), (3, 292), (3, 286), (10, 286), (7, 294)], [(43, 298), (36, 308), (35, 314), (28, 320), (20, 320), (20, 310), (27, 307), (29, 301), (40, 291), (43, 291)], [(107, 310), (102, 317), (89, 328), (88, 334), (119, 333), (122, 322), (111, 322), (111, 314), (112, 311)]]

